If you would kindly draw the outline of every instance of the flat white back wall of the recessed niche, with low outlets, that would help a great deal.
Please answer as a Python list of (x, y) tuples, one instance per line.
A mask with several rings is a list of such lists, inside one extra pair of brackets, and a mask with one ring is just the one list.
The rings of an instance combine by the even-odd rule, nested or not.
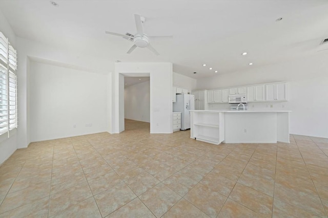
[(31, 61), (29, 90), (32, 142), (106, 131), (106, 75)]

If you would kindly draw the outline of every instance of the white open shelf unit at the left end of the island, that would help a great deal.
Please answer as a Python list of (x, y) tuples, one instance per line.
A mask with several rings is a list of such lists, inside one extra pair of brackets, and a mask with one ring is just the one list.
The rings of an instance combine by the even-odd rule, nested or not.
[(224, 140), (224, 114), (222, 112), (193, 111), (190, 138), (220, 144)]

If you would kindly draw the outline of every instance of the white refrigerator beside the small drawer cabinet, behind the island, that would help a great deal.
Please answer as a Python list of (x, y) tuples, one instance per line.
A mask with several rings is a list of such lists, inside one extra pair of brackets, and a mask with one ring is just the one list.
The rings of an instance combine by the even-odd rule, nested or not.
[(173, 103), (173, 112), (181, 112), (181, 130), (190, 128), (190, 111), (195, 110), (194, 95), (176, 95), (176, 102)]

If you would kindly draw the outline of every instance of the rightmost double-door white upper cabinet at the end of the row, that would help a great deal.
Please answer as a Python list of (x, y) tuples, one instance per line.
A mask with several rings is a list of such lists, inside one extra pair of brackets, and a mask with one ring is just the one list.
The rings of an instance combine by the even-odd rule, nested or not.
[(266, 101), (286, 101), (287, 100), (287, 83), (275, 83), (265, 85)]

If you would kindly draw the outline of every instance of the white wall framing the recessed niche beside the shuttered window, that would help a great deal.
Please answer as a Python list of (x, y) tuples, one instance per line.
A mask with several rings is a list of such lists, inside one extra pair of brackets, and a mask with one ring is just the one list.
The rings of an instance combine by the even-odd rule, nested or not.
[[(109, 113), (104, 118), (108, 122), (107, 132), (112, 132), (111, 125), (111, 107), (112, 107), (112, 74), (114, 64), (105, 57), (91, 57), (88, 55), (67, 51), (65, 48), (54, 48), (39, 42), (31, 41), (25, 38), (17, 37), (17, 86), (18, 86), (18, 129), (17, 129), (17, 148), (27, 147), (29, 139), (29, 108), (28, 108), (28, 90), (29, 90), (29, 67), (28, 61), (46, 60), (48, 63), (58, 64), (62, 67), (77, 69), (81, 71), (99, 73), (107, 75), (107, 108)], [(109, 116), (110, 115), (110, 116)]]

